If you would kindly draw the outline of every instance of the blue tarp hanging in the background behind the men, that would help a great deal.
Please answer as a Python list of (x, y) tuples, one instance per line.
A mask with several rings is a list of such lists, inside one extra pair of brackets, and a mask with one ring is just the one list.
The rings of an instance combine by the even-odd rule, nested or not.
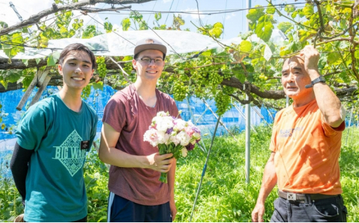
[[(16, 106), (23, 97), (23, 89), (0, 93), (0, 101), (3, 106), (1, 109), (3, 124), (6, 125), (6, 128), (0, 129), (0, 173), (3, 177), (10, 176), (8, 164), (10, 162), (12, 149), (16, 141), (14, 132), (16, 131), (19, 120), (21, 119), (23, 113), (25, 113), (26, 108), (28, 108), (28, 104), (30, 104), (32, 97), (35, 96), (36, 92), (37, 89), (32, 92), (26, 102), (26, 106), (24, 106), (24, 108), (20, 111), (16, 110)], [(57, 87), (49, 86), (46, 90), (44, 90), (41, 99), (57, 92)], [(116, 90), (113, 90), (110, 86), (104, 86), (104, 90), (91, 90), (90, 96), (86, 99), (86, 102), (95, 109), (97, 115), (99, 116), (99, 122), (97, 124), (97, 138), (99, 138), (99, 133), (101, 132), (101, 119), (104, 115), (104, 107), (106, 106), (108, 99), (110, 99), (115, 92)], [(176, 104), (178, 109), (182, 110), (182, 119), (186, 121), (191, 119), (194, 124), (200, 127), (202, 133), (209, 133), (208, 137), (211, 137), (215, 128), (215, 123), (217, 122), (217, 118), (213, 115), (213, 112), (217, 109), (215, 107), (215, 101), (206, 101), (206, 104), (213, 112), (208, 108), (208, 106), (206, 106), (202, 99), (198, 99), (196, 97), (188, 97), (184, 99), (184, 101), (176, 101)], [(222, 115), (221, 120), (226, 127), (219, 126), (216, 135), (228, 134), (226, 128), (237, 132), (244, 130), (244, 110), (244, 106), (236, 104), (235, 107), (231, 108), (231, 110)], [(258, 113), (262, 115), (263, 119), (260, 115), (258, 115)], [(264, 120), (268, 123), (272, 123), (274, 115), (275, 110), (267, 110), (264, 107), (251, 108), (251, 124), (255, 126), (264, 122)]]

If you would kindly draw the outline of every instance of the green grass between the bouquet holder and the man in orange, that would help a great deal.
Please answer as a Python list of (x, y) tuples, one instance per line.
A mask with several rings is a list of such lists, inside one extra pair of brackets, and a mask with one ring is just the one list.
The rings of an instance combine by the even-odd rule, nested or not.
[[(193, 222), (251, 221), (251, 210), (262, 182), (264, 164), (271, 153), (268, 149), (271, 130), (257, 128), (257, 131), (257, 134), (251, 135), (250, 184), (246, 184), (245, 178), (244, 134), (237, 135), (235, 139), (215, 139)], [(210, 143), (209, 139), (205, 140), (206, 148)], [(206, 155), (197, 148), (188, 158), (179, 160), (175, 184), (177, 222), (188, 222), (190, 219)], [(271, 216), (274, 199), (275, 193), (272, 193), (266, 202), (266, 217)]]

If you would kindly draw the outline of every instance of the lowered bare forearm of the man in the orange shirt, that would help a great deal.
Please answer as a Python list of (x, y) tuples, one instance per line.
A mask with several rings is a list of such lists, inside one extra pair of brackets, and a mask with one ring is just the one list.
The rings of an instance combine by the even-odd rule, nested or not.
[(269, 193), (277, 184), (277, 174), (275, 173), (274, 166), (274, 154), (271, 154), (269, 161), (266, 163), (264, 167), (264, 174), (262, 179), (262, 186), (260, 187), (260, 193), (258, 195), (257, 203), (264, 204), (266, 197), (268, 197)]

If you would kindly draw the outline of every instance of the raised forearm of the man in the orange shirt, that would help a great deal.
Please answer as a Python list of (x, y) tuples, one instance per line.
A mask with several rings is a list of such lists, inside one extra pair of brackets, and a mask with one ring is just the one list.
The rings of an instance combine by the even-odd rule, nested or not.
[[(318, 70), (309, 70), (311, 80), (320, 76)], [(342, 104), (327, 84), (322, 82), (313, 85), (314, 94), (318, 107), (324, 116), (325, 121), (332, 127), (340, 126), (345, 117), (340, 115)]]

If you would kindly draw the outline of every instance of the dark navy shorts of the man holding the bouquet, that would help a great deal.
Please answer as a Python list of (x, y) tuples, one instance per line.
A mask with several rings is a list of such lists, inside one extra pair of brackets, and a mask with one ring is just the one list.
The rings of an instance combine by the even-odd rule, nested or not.
[(136, 204), (110, 193), (108, 222), (172, 222), (170, 202), (154, 206)]

